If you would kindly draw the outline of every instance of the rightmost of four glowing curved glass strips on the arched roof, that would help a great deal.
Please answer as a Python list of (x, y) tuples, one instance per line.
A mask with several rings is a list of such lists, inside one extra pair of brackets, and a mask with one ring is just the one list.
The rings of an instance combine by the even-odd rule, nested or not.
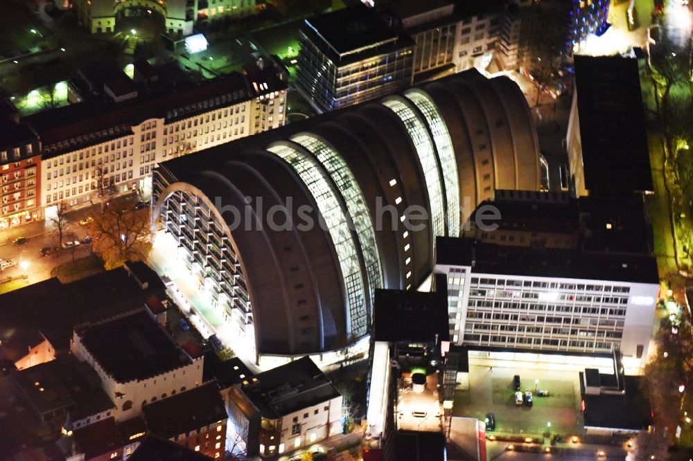
[(457, 160), (455, 160), (455, 150), (453, 141), (450, 139), (448, 127), (438, 109), (428, 96), (418, 91), (407, 91), (405, 98), (412, 101), (419, 108), (428, 128), (433, 134), (438, 160), (443, 169), (443, 181), (445, 184), (445, 198), (448, 204), (448, 235), (457, 237), (459, 235), (459, 179), (457, 176)]

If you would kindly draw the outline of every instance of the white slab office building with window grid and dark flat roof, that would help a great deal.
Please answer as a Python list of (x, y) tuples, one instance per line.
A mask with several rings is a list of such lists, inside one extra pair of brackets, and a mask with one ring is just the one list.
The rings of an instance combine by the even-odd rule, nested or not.
[[(466, 256), (459, 257), (460, 247)], [(439, 253), (436, 265), (437, 273), (448, 276), (453, 343), (537, 352), (618, 350), (644, 366), (659, 292), (651, 257), (589, 255), (573, 262), (574, 255), (556, 250), (561, 255), (548, 256), (543, 267), (518, 259), (509, 269), (510, 259), (495, 244), (459, 239), (439, 244), (437, 251), (458, 255), (454, 264), (455, 257)], [(500, 260), (495, 268), (493, 254)], [(597, 272), (603, 278), (590, 278)]]

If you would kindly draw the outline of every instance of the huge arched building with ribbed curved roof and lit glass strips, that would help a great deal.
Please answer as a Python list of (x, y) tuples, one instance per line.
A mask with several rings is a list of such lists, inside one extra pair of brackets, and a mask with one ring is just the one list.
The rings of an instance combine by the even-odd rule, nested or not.
[[(239, 354), (327, 352), (367, 334), (375, 289), (419, 286), (473, 206), (538, 183), (523, 93), (466, 71), (159, 165), (152, 259), (199, 287)], [(251, 204), (329, 225), (274, 232), (259, 208), (244, 224)]]

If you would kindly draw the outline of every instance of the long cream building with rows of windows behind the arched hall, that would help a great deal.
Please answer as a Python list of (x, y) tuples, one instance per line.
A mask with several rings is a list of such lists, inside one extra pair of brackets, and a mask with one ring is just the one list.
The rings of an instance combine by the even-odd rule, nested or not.
[[(76, 207), (89, 204), (107, 190), (148, 189), (158, 162), (282, 126), (286, 89), (270, 88), (266, 82), (252, 82), (249, 87), (241, 79), (243, 87), (211, 84), (211, 91), (194, 102), (195, 95), (186, 98), (185, 91), (164, 104), (143, 102), (133, 118), (148, 113), (156, 116), (137, 123), (116, 109), (112, 120), (118, 121), (98, 131), (88, 119), (83, 126), (78, 121), (76, 129), (66, 129), (65, 133), (74, 134), (69, 138), (60, 136), (60, 126), (55, 127), (56, 134), (42, 145), (42, 206), (52, 208), (62, 202)], [(54, 116), (60, 120), (58, 112)]]

